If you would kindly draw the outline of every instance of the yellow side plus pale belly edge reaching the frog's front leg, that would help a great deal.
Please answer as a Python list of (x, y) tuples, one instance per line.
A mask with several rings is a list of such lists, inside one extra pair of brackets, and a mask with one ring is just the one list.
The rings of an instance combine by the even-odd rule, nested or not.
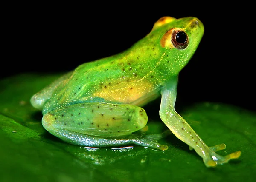
[(145, 105), (159, 97), (160, 89), (149, 82), (140, 81), (127, 84), (125, 82), (103, 88), (93, 94), (94, 97), (104, 98), (106, 102)]

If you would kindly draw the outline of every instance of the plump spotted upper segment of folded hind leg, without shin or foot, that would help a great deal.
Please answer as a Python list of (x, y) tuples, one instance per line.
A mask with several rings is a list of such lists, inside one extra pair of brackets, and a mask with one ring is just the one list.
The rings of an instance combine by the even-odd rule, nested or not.
[(124, 136), (147, 123), (143, 108), (127, 104), (79, 103), (44, 115), (44, 128), (59, 137), (63, 130), (92, 136)]

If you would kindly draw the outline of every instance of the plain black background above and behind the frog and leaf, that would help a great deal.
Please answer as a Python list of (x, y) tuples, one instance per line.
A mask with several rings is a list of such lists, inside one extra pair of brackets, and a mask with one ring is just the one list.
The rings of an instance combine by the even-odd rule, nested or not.
[(255, 13), (250, 3), (90, 3), (6, 6), (2, 79), (70, 71), (124, 51), (160, 17), (195, 16), (204, 23), (205, 33), (180, 72), (177, 102), (222, 102), (255, 111)]

